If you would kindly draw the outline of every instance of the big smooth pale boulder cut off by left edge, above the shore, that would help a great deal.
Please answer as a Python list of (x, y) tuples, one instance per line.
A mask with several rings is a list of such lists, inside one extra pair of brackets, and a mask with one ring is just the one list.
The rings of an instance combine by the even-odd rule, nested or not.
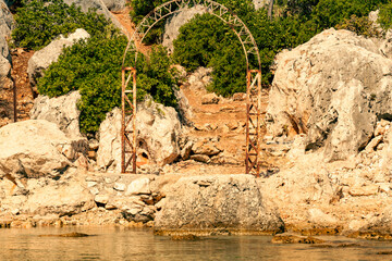
[(9, 124), (0, 128), (0, 178), (58, 176), (86, 146), (86, 139), (68, 138), (47, 121)]

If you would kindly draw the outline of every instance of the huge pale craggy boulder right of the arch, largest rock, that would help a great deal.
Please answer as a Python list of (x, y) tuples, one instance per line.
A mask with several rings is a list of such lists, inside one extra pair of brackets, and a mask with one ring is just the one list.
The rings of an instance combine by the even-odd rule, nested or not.
[(306, 133), (329, 161), (365, 148), (392, 113), (392, 60), (370, 39), (328, 29), (281, 53), (267, 109), (274, 136)]

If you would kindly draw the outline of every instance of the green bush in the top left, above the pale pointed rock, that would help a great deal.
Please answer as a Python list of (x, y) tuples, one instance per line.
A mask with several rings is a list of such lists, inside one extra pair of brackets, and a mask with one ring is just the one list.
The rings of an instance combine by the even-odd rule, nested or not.
[(23, 0), (15, 21), (17, 26), (12, 32), (15, 45), (35, 50), (47, 46), (60, 34), (66, 35), (81, 27), (93, 36), (115, 32), (103, 15), (94, 10), (83, 13), (63, 0)]

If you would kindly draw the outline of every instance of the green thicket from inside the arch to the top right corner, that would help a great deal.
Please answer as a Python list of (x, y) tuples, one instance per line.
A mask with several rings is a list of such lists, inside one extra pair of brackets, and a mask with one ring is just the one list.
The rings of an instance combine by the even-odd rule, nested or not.
[[(387, 7), (392, 7), (387, 4), (388, 0), (278, 0), (275, 15), (270, 20), (267, 10), (256, 11), (252, 1), (218, 2), (235, 10), (254, 35), (260, 51), (264, 86), (271, 83), (270, 65), (282, 49), (302, 45), (330, 27), (350, 29), (366, 37), (378, 36), (367, 16), (370, 11), (383, 7), (380, 21), (390, 22), (391, 8)], [(212, 66), (210, 89), (220, 95), (245, 90), (245, 57), (238, 40), (228, 26), (209, 14), (196, 16), (181, 28), (174, 41), (173, 58), (187, 71)]]

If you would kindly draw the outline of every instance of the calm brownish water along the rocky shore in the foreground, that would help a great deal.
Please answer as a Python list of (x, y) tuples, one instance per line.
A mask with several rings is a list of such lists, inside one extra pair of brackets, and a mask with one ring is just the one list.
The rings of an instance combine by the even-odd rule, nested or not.
[[(79, 232), (91, 237), (39, 237)], [(330, 237), (333, 238), (333, 237)], [(268, 236), (173, 241), (151, 231), (115, 227), (0, 229), (0, 260), (392, 260), (392, 243), (355, 240), (350, 248), (272, 245)]]

